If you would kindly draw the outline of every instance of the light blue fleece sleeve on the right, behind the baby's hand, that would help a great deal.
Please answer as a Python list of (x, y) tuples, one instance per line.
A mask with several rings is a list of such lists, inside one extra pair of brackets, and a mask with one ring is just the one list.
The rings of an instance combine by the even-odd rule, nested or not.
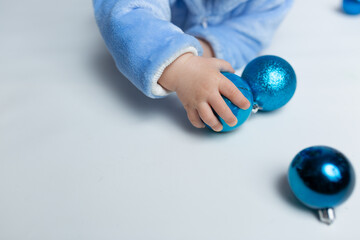
[(250, 0), (220, 24), (196, 25), (185, 32), (207, 40), (215, 57), (235, 69), (252, 60), (272, 38), (293, 0)]

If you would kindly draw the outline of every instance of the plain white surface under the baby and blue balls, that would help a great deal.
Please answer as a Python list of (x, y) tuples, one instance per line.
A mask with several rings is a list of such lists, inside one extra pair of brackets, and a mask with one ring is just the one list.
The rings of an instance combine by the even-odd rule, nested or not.
[(0, 239), (359, 239), (359, 187), (332, 226), (287, 168), (329, 145), (360, 177), (360, 17), (296, 1), (262, 54), (298, 76), (282, 110), (216, 134), (114, 67), (91, 1), (0, 3)]

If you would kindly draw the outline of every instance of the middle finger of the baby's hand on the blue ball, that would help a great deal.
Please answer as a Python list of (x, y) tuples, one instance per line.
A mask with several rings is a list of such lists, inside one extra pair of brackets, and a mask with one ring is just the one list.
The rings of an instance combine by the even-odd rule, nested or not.
[(209, 99), (209, 104), (230, 127), (236, 125), (237, 118), (232, 113), (220, 94), (213, 95), (213, 97)]

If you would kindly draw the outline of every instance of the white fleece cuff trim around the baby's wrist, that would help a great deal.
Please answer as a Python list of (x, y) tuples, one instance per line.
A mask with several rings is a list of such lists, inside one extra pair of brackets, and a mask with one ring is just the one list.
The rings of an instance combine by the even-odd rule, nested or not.
[(164, 70), (167, 66), (169, 66), (173, 61), (175, 61), (175, 59), (177, 59), (184, 53), (188, 53), (188, 52), (193, 53), (195, 56), (198, 56), (198, 51), (196, 50), (195, 47), (191, 47), (191, 46), (186, 47), (186, 48), (181, 49), (180, 51), (176, 52), (173, 56), (171, 56), (168, 60), (166, 60), (159, 67), (159, 69), (156, 71), (156, 73), (151, 81), (151, 93), (153, 95), (158, 96), (158, 97), (163, 97), (163, 96), (169, 95), (171, 93), (171, 91), (160, 86), (157, 83), (157, 81), (159, 80), (159, 78), (161, 77), (162, 73), (164, 72)]

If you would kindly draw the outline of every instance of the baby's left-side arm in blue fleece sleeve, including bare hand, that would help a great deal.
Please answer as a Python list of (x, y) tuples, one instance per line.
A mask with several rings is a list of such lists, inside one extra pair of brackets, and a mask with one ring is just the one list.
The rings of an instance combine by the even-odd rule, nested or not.
[[(198, 57), (203, 51), (199, 41), (170, 22), (168, 0), (94, 0), (94, 8), (118, 69), (147, 96), (158, 98), (176, 91), (191, 123), (202, 127), (201, 117), (216, 131), (222, 125), (211, 108), (230, 126), (237, 122), (220, 94), (240, 108), (249, 107), (248, 100), (220, 73), (233, 72), (231, 65)], [(206, 55), (211, 54), (208, 48)]]

